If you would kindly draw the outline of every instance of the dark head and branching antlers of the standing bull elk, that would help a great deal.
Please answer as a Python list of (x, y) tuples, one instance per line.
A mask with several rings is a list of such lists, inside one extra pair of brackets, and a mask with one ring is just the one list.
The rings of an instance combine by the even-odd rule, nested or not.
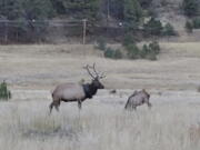
[[(88, 71), (88, 73), (90, 74), (90, 77), (92, 78), (91, 84), (97, 88), (97, 89), (104, 89), (104, 86), (100, 82), (100, 79), (104, 78), (106, 76), (103, 74), (99, 74), (96, 70), (96, 63), (93, 63), (92, 67), (90, 67), (89, 64), (87, 64), (84, 67), (84, 69)], [(93, 70), (93, 73), (91, 73), (90, 69)]]

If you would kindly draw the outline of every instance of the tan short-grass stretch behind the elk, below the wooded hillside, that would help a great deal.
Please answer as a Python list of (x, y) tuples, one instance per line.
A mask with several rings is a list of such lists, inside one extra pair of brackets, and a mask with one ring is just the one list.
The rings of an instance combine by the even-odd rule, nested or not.
[[(114, 46), (116, 47), (116, 46)], [(93, 46), (1, 46), (0, 80), (14, 89), (52, 89), (60, 82), (90, 80), (82, 67), (97, 63), (107, 88), (196, 89), (200, 78), (200, 43), (161, 43), (158, 61), (110, 60)]]

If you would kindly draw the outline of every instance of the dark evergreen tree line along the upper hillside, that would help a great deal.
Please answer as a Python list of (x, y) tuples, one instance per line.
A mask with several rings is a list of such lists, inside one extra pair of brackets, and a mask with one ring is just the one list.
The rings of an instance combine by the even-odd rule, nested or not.
[[(199, 13), (200, 0), (183, 0), (182, 9), (186, 16)], [(153, 0), (0, 0), (0, 20), (12, 20), (18, 23), (9, 30), (9, 34), (26, 37), (34, 41), (46, 34), (48, 23), (44, 20), (88, 19), (90, 29), (93, 24), (110, 18), (122, 22), (124, 32), (137, 32), (146, 29), (146, 34), (174, 34), (171, 24), (167, 29), (157, 20)], [(151, 18), (146, 21), (146, 18)], [(9, 24), (0, 23), (1, 33), (8, 32)], [(26, 41), (24, 41), (26, 42)]]

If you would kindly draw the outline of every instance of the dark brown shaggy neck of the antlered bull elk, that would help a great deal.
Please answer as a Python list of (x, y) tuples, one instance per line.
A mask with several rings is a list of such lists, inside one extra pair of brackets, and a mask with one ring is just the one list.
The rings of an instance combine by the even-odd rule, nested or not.
[(92, 96), (94, 96), (98, 91), (98, 88), (94, 87), (92, 83), (83, 84), (83, 89), (84, 89), (86, 98), (89, 98), (89, 99), (91, 99)]

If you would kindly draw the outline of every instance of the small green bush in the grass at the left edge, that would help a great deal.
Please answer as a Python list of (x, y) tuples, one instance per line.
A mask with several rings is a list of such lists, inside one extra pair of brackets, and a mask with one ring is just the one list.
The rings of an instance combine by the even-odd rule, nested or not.
[(7, 88), (7, 82), (3, 81), (0, 84), (0, 100), (9, 100), (9, 99), (11, 99), (11, 92)]

